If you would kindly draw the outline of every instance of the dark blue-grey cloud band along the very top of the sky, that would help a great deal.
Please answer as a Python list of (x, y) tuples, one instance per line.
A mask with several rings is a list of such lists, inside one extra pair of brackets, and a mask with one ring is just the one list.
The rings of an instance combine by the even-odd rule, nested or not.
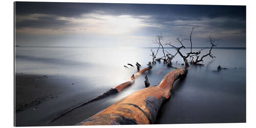
[(92, 12), (112, 15), (175, 15), (181, 18), (245, 18), (245, 6), (16, 2), (17, 15), (42, 13), (75, 17)]

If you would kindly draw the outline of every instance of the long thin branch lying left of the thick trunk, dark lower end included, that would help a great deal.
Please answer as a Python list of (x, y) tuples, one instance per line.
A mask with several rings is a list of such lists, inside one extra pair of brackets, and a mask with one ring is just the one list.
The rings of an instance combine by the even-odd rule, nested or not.
[(93, 99), (91, 99), (91, 100), (85, 101), (85, 102), (83, 102), (83, 103), (80, 103), (80, 104), (77, 105), (77, 106), (74, 106), (73, 108), (67, 110), (66, 112), (62, 113), (62, 114), (59, 115), (58, 117), (56, 117), (56, 118), (54, 118), (53, 120), (51, 120), (50, 123), (53, 122), (53, 121), (55, 121), (55, 120), (57, 120), (57, 119), (59, 119), (60, 117), (62, 117), (62, 116), (64, 116), (64, 115), (70, 113), (71, 111), (73, 111), (73, 110), (75, 110), (75, 109), (77, 109), (77, 108), (83, 106), (83, 105), (86, 105), (86, 104), (88, 104), (88, 103), (91, 103), (91, 102), (94, 102), (94, 101), (103, 99), (103, 98), (105, 98), (105, 97), (108, 97), (108, 96), (110, 96), (110, 95), (113, 95), (113, 94), (116, 94), (116, 93), (121, 92), (121, 91), (122, 91), (123, 89), (125, 89), (126, 87), (131, 86), (131, 85), (134, 83), (134, 80), (135, 80), (136, 77), (140, 76), (143, 72), (145, 72), (145, 71), (147, 71), (147, 70), (150, 70), (151, 68), (152, 68), (152, 66), (140, 70), (140, 71), (139, 71), (138, 73), (136, 73), (135, 75), (133, 74), (126, 82), (119, 84), (118, 86), (116, 86), (116, 87), (114, 87), (114, 88), (112, 88), (112, 89), (110, 89), (110, 90), (104, 92), (103, 94), (101, 94), (101, 95), (99, 95), (99, 96), (97, 96), (97, 97), (95, 97), (95, 98), (93, 98)]

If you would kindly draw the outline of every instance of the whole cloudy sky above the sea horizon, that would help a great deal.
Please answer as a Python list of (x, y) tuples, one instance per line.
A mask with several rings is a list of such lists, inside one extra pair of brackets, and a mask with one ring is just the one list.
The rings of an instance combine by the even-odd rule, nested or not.
[(246, 6), (15, 3), (19, 46), (156, 47), (157, 34), (178, 46), (193, 27), (194, 47), (208, 47), (209, 36), (218, 47), (246, 47)]

